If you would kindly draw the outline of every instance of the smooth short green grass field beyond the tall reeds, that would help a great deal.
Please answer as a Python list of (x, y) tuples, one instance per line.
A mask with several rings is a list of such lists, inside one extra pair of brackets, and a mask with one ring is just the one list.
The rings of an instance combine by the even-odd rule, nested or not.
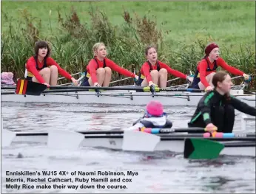
[(9, 25), (4, 21), (4, 13), (12, 15), (13, 22), (18, 23), (21, 10), (26, 9), (41, 19), (42, 37), (58, 35), (58, 10), (62, 16), (68, 15), (72, 6), (81, 23), (90, 20), (90, 6), (107, 13), (114, 25), (124, 24), (124, 10), (140, 16), (155, 15), (159, 29), (162, 26), (169, 31), (164, 40), (171, 43), (173, 50), (181, 42), (189, 45), (197, 38), (209, 40), (209, 37), (220, 46), (231, 46), (232, 50), (238, 50), (239, 44), (255, 45), (255, 1), (2, 1), (1, 31)]

